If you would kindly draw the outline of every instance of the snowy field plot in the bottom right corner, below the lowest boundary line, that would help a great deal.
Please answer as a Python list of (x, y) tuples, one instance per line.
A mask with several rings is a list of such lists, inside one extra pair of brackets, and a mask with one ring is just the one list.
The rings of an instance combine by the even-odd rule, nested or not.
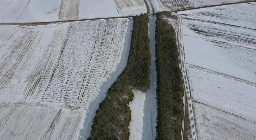
[(199, 140), (255, 140), (256, 125), (226, 112), (194, 103)]

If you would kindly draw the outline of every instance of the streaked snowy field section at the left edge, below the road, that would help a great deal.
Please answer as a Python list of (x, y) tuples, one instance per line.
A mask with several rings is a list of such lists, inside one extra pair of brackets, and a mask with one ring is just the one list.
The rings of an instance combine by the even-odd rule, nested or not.
[[(14, 27), (14, 28), (13, 28)], [(45, 28), (1, 27), (0, 97), (33, 100), (45, 90), (56, 65), (66, 24)]]

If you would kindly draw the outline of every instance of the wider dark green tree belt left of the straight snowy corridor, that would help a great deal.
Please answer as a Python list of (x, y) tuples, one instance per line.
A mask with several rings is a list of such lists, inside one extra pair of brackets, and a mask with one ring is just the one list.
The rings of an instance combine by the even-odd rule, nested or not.
[(108, 89), (93, 119), (88, 140), (129, 139), (133, 89), (146, 91), (150, 84), (148, 16), (135, 16), (127, 66)]

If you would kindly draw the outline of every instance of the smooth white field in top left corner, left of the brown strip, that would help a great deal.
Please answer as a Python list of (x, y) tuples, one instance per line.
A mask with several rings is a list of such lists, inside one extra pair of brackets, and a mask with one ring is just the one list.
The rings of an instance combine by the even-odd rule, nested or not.
[(0, 23), (57, 21), (61, 0), (0, 0)]

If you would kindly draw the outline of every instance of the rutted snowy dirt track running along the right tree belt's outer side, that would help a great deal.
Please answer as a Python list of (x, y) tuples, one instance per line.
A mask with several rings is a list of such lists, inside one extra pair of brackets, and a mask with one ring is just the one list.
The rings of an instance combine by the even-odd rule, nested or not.
[(189, 89), (189, 83), (188, 83), (188, 78), (187, 78), (187, 73), (186, 73), (186, 68), (185, 68), (185, 58), (184, 58), (184, 48), (182, 45), (182, 20), (181, 17), (177, 14), (178, 20), (179, 20), (179, 27), (175, 30), (175, 35), (176, 35), (176, 44), (178, 48), (178, 55), (179, 55), (179, 65), (180, 69), (182, 72), (182, 79), (183, 79), (183, 88), (184, 88), (184, 96), (183, 96), (183, 119), (182, 119), (182, 124), (181, 124), (181, 140), (183, 140), (183, 134), (184, 134), (184, 120), (185, 120), (185, 98), (186, 98), (186, 93), (187, 93), (187, 98), (188, 98), (188, 109), (189, 109), (189, 119), (190, 119), (190, 129), (191, 129), (191, 134), (192, 134), (192, 139), (197, 140), (196, 136), (196, 127), (195, 127), (195, 122), (194, 122), (194, 117), (193, 117), (193, 107), (192, 107), (192, 99), (191, 99), (191, 93)]

